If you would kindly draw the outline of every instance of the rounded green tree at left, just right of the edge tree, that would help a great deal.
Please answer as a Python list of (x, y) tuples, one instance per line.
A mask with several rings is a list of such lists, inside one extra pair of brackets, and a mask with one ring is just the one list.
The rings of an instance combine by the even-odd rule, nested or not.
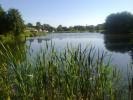
[(24, 31), (24, 21), (17, 9), (9, 9), (7, 13), (8, 29), (14, 34), (19, 35)]

